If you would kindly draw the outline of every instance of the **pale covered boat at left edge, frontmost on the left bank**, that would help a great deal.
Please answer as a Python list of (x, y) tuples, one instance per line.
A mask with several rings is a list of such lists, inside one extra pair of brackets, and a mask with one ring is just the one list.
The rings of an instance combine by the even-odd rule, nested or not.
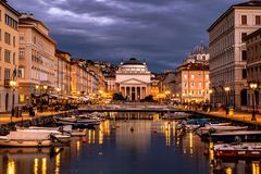
[(53, 145), (51, 133), (10, 132), (0, 136), (0, 147), (49, 147)]

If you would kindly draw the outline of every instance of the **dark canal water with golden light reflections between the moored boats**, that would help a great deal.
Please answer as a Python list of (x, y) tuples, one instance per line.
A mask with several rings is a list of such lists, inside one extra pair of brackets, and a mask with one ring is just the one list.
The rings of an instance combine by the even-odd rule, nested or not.
[(210, 150), (212, 145), (177, 130), (175, 122), (159, 120), (157, 114), (144, 116), (121, 115), (122, 120), (105, 121), (63, 148), (0, 148), (0, 173), (260, 173), (260, 161), (216, 160)]

